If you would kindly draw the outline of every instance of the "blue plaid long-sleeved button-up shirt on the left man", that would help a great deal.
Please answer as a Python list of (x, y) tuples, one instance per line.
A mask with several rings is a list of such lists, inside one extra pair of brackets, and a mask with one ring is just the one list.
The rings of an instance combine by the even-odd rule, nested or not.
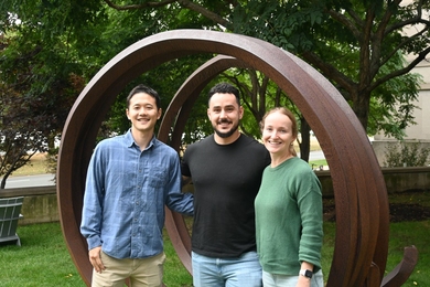
[(152, 138), (143, 151), (129, 130), (96, 147), (88, 167), (80, 233), (88, 249), (115, 258), (144, 258), (163, 251), (164, 204), (193, 215), (181, 192), (179, 156)]

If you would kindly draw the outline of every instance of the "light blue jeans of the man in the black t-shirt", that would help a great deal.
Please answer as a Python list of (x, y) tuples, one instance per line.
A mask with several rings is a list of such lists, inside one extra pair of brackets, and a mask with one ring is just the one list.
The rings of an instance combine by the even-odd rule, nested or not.
[(261, 287), (256, 252), (237, 258), (213, 258), (192, 253), (194, 287)]

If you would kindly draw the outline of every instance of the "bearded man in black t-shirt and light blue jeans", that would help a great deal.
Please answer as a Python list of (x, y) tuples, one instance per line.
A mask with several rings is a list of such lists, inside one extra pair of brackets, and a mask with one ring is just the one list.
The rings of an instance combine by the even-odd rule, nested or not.
[(270, 156), (239, 132), (243, 115), (238, 89), (226, 83), (214, 86), (207, 116), (215, 132), (187, 147), (182, 160), (184, 183), (194, 184), (195, 287), (261, 286), (254, 200)]

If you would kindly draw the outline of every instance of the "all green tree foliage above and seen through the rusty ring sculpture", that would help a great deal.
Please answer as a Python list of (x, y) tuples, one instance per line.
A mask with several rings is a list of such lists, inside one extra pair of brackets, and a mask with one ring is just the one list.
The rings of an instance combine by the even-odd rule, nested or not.
[[(419, 77), (409, 72), (430, 52), (429, 8), (426, 0), (2, 1), (2, 97), (13, 96), (31, 109), (25, 115), (33, 124), (41, 123), (24, 121), (33, 131), (56, 135), (82, 86), (121, 50), (166, 30), (208, 29), (259, 38), (294, 53), (333, 83), (369, 134), (384, 131), (401, 138), (404, 128), (413, 124), (419, 84)], [(208, 56), (165, 63), (136, 82), (164, 95), (165, 109), (181, 83)], [(294, 109), (282, 91), (256, 71), (229, 70), (221, 78), (236, 83), (245, 95), (247, 117), (241, 128), (246, 132), (259, 135), (257, 124), (266, 108), (287, 105)], [(128, 126), (120, 103), (123, 97), (118, 97), (104, 123), (107, 131), (121, 132)], [(3, 108), (2, 120), (6, 113), (20, 110), (18, 104), (4, 103), (11, 106)], [(185, 142), (211, 132), (205, 104), (205, 98), (197, 99), (185, 127)], [(305, 151), (309, 126), (300, 110), (297, 114)], [(14, 117), (8, 117), (12, 123)], [(0, 123), (2, 130), (4, 123)], [(23, 130), (15, 135), (24, 135)]]

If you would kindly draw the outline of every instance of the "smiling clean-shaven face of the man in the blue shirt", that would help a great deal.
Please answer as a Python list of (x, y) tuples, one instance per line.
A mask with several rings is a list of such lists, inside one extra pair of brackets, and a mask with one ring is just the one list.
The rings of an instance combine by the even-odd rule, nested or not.
[(154, 97), (146, 93), (137, 93), (130, 98), (126, 113), (128, 119), (131, 120), (133, 134), (153, 134), (157, 120), (161, 116), (161, 108), (157, 108)]

